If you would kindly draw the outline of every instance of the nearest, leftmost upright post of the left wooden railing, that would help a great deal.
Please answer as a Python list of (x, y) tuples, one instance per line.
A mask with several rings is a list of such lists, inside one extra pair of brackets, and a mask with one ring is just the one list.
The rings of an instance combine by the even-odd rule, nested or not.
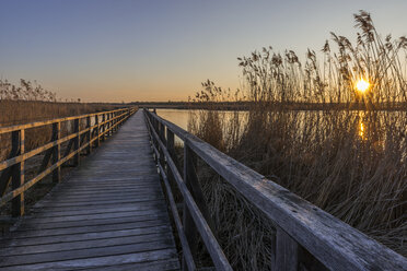
[[(15, 156), (23, 154), (25, 152), (25, 130), (13, 131), (11, 133), (11, 140), (12, 149), (18, 150)], [(12, 189), (16, 189), (22, 185), (24, 185), (24, 161), (13, 165), (11, 173)], [(24, 215), (24, 192), (20, 193), (11, 201), (11, 213), (14, 217)]]

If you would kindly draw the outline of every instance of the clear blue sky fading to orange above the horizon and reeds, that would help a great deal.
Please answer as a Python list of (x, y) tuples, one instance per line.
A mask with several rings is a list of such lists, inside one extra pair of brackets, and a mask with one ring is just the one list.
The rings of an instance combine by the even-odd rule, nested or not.
[(239, 87), (236, 58), (261, 47), (352, 40), (359, 10), (407, 35), (406, 0), (0, 0), (0, 79), (83, 102), (186, 101), (207, 79)]

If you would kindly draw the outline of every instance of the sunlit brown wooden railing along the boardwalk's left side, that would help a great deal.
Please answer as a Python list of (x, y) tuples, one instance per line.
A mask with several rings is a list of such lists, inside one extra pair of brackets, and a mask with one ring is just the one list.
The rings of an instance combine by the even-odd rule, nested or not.
[[(61, 166), (72, 160), (73, 166), (79, 165), (80, 154), (91, 153), (92, 148), (100, 145), (100, 141), (113, 134), (126, 119), (137, 109), (124, 108), (74, 117), (58, 118), (46, 121), (36, 121), (26, 125), (0, 127), (0, 134), (11, 133), (11, 152), (8, 160), (0, 162), (0, 207), (11, 201), (12, 216), (24, 214), (24, 192), (40, 179), (53, 173), (53, 180), (61, 179)], [(81, 129), (82, 120), (85, 128)], [(61, 123), (71, 121), (73, 127), (68, 136), (61, 138)], [(92, 123), (93, 122), (93, 123)], [(51, 126), (50, 142), (25, 152), (25, 131), (27, 129)], [(61, 144), (68, 143), (61, 156)], [(1, 142), (4, 144), (4, 142)], [(25, 161), (44, 153), (43, 162), (37, 175), (25, 181)], [(48, 164), (51, 164), (48, 166)], [(10, 189), (11, 182), (11, 189)]]

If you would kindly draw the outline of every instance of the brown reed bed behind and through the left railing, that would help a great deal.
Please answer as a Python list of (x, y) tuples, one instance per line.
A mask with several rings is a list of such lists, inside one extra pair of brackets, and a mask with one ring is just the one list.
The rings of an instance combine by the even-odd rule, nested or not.
[[(111, 104), (84, 104), (77, 102), (60, 102), (56, 94), (44, 90), (35, 82), (21, 80), (18, 85), (0, 80), (0, 127), (22, 125), (46, 119), (77, 116), (95, 111), (113, 110), (116, 106)], [(81, 123), (84, 127), (84, 122)], [(67, 136), (72, 121), (61, 123), (62, 137)], [(51, 139), (51, 126), (43, 126), (25, 130), (25, 151), (44, 145)], [(61, 145), (63, 152), (67, 144)], [(0, 134), (0, 161), (7, 160), (11, 151), (11, 133)], [(25, 176), (27, 179), (36, 176), (43, 162), (44, 153), (40, 153), (25, 163)], [(62, 175), (69, 173), (68, 167), (62, 168)], [(48, 176), (25, 193), (27, 211), (42, 197), (55, 186)], [(0, 215), (9, 215), (10, 204), (0, 208)], [(0, 228), (8, 228), (10, 225), (2, 225)]]

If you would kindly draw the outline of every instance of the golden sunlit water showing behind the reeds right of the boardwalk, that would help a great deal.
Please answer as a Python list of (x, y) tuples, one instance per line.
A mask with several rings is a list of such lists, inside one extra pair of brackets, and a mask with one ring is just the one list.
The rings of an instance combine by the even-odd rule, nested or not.
[[(183, 129), (188, 129), (188, 120), (199, 122), (197, 110), (185, 109), (158, 109), (158, 115), (167, 119)], [(239, 119), (240, 134), (245, 130), (249, 114), (240, 111), (236, 118), (233, 111), (220, 111), (222, 125), (231, 123), (229, 120)], [(405, 148), (405, 136), (407, 127), (406, 111), (270, 111), (267, 122), (269, 126), (276, 125), (276, 120), (283, 119), (289, 123), (293, 139), (323, 140), (339, 131), (353, 131), (357, 138), (365, 143), (371, 142), (374, 149), (383, 151), (386, 141), (397, 141), (399, 148)], [(283, 116), (283, 117), (282, 117)], [(235, 123), (234, 123), (235, 125)], [(277, 126), (279, 127), (279, 126)], [(231, 133), (228, 127), (223, 127), (224, 134)], [(403, 140), (400, 140), (400, 137)], [(179, 142), (179, 141), (178, 141)]]

